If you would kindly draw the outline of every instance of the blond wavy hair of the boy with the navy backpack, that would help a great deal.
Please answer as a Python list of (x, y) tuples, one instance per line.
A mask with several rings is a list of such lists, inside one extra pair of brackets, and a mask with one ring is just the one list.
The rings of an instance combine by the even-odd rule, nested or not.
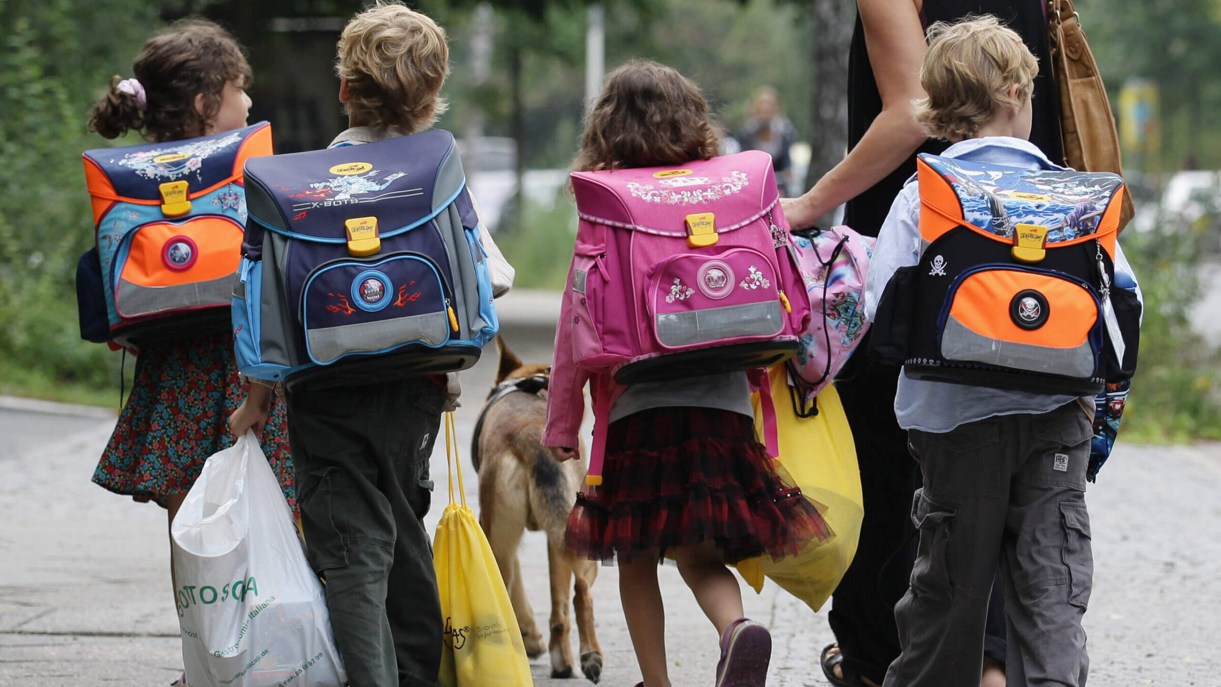
[(335, 72), (348, 79), (349, 117), (376, 130), (416, 133), (436, 123), (449, 104), (446, 31), (426, 15), (379, 1), (343, 28)]

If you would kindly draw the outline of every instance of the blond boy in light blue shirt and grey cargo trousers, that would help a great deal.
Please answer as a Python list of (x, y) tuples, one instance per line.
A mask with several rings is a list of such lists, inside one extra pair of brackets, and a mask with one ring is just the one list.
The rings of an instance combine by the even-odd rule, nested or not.
[[(995, 17), (938, 22), (929, 28), (921, 68), (928, 98), (916, 101), (917, 119), (954, 143), (945, 158), (1063, 170), (1027, 141), (1037, 72), (1018, 34)], [(878, 235), (866, 291), (871, 320), (895, 271), (919, 263), (919, 185), (912, 180)], [(1115, 274), (1116, 284), (1134, 286), (1118, 243)], [(902, 653), (884, 687), (979, 685), (998, 562), (1009, 683), (1084, 685), (1093, 399), (901, 377), (895, 413), (924, 484), (912, 506), (919, 554), (911, 588), (895, 608)]]

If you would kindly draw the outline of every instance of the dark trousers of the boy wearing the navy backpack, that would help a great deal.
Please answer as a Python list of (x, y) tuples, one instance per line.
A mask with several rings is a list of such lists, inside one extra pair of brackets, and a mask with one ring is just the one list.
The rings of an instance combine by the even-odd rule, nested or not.
[(431, 687), (443, 621), (424, 529), (444, 390), (427, 379), (288, 396), (310, 565), (352, 687)]

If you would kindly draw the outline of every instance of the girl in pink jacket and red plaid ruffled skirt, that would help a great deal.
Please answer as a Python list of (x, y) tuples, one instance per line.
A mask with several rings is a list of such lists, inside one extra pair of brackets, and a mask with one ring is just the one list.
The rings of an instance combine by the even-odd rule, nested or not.
[[(698, 88), (673, 68), (635, 60), (612, 72), (589, 117), (578, 171), (681, 165), (717, 155)], [(571, 277), (571, 275), (570, 275)], [(560, 318), (571, 317), (564, 301)], [(567, 320), (564, 320), (567, 321)], [(559, 328), (543, 444), (576, 457), (585, 373)], [(595, 392), (613, 385), (591, 380)], [(742, 617), (725, 565), (796, 553), (829, 535), (800, 490), (786, 485), (755, 438), (745, 372), (629, 385), (612, 406), (603, 482), (578, 496), (567, 544), (619, 565), (619, 590), (643, 687), (668, 687), (665, 616), (657, 566), (670, 555), (720, 637), (718, 687), (762, 686), (772, 638)]]

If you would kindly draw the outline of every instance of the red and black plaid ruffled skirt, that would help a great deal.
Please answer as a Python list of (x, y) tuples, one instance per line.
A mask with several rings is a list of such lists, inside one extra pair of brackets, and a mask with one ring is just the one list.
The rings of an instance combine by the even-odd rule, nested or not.
[(600, 487), (576, 496), (567, 545), (578, 555), (630, 562), (714, 540), (726, 564), (792, 555), (834, 534), (731, 411), (664, 407), (607, 428)]

